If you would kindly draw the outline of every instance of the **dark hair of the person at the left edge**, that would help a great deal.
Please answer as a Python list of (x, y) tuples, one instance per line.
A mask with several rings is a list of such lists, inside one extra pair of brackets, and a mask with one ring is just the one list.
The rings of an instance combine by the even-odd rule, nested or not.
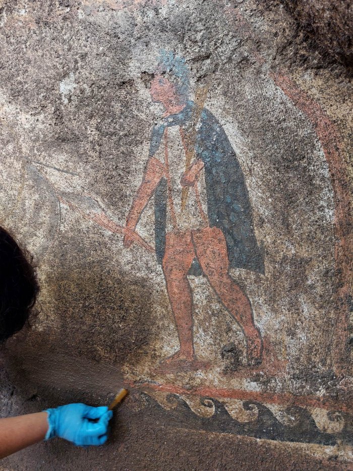
[(0, 227), (0, 343), (28, 321), (39, 291), (33, 258)]

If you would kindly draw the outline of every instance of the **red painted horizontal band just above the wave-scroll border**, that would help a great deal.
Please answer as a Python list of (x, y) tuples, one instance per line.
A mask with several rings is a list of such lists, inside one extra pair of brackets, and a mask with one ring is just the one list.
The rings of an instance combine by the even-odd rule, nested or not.
[(198, 387), (193, 389), (185, 389), (173, 384), (156, 384), (143, 383), (136, 384), (134, 382), (126, 382), (130, 388), (154, 391), (161, 391), (171, 394), (191, 395), (221, 399), (239, 399), (242, 401), (257, 401), (261, 403), (276, 404), (283, 406), (299, 406), (304, 408), (320, 408), (325, 410), (340, 410), (343, 412), (353, 411), (353, 402), (347, 401), (342, 403), (330, 397), (320, 396), (295, 396), (292, 394), (275, 394), (258, 391), (247, 391), (244, 389), (216, 389), (207, 387)]

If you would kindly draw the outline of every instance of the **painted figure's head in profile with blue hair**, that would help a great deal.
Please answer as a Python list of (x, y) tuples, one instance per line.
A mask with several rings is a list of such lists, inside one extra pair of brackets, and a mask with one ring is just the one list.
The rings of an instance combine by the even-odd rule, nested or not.
[(185, 106), (189, 97), (189, 71), (185, 59), (161, 50), (157, 70), (151, 82), (152, 100), (166, 110)]

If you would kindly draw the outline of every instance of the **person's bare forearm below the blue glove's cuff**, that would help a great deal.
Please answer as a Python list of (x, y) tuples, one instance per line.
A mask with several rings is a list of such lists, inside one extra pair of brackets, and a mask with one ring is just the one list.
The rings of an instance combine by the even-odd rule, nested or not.
[(47, 413), (0, 419), (0, 459), (44, 439), (48, 430)]

